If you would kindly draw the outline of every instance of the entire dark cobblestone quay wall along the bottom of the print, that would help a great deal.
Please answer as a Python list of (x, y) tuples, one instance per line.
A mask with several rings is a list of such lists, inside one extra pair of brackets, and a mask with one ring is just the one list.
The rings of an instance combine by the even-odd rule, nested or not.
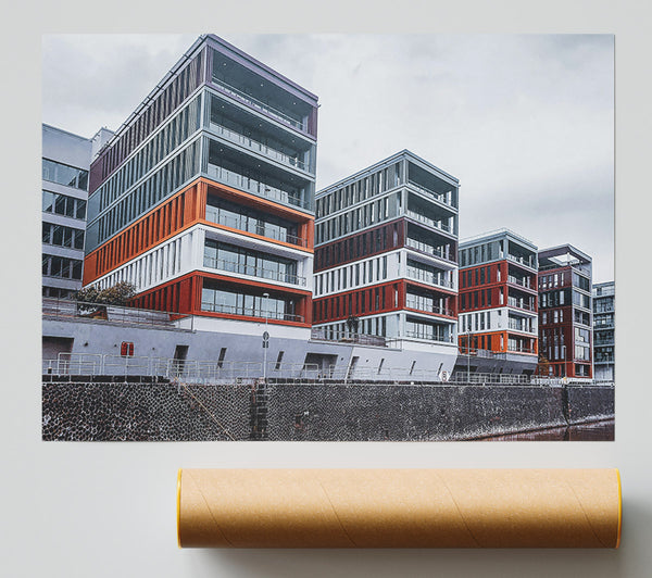
[(613, 389), (47, 382), (45, 440), (459, 440), (612, 417)]

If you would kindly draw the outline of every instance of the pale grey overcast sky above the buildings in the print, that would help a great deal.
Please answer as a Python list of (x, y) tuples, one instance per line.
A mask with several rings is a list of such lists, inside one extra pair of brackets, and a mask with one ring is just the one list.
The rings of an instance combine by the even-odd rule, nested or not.
[[(229, 35), (319, 98), (317, 189), (409, 149), (460, 179), (460, 236), (569, 242), (614, 277), (614, 39)], [(116, 129), (195, 35), (43, 37), (42, 122)]]

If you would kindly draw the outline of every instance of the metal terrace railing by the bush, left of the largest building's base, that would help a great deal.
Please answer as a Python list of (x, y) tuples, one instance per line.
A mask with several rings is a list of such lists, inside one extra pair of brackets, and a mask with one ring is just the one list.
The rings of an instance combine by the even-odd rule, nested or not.
[[(46, 297), (42, 299), (43, 317), (54, 319), (82, 319), (106, 322), (120, 325), (147, 325), (180, 329), (175, 322), (190, 319), (192, 316), (166, 311), (128, 307), (125, 305), (108, 305), (103, 303), (87, 303), (71, 299)], [(190, 327), (191, 329), (192, 327)], [(187, 330), (187, 329), (186, 329)]]

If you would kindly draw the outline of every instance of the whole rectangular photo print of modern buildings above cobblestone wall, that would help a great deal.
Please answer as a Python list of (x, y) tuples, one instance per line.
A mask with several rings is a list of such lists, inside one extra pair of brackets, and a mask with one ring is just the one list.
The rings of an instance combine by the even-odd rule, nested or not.
[(613, 49), (45, 37), (43, 439), (613, 439)]

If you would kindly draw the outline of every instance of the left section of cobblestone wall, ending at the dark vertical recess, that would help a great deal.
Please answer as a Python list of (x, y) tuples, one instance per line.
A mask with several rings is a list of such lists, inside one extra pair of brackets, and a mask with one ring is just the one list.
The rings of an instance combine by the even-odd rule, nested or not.
[(250, 435), (249, 386), (43, 384), (43, 440), (205, 441)]

